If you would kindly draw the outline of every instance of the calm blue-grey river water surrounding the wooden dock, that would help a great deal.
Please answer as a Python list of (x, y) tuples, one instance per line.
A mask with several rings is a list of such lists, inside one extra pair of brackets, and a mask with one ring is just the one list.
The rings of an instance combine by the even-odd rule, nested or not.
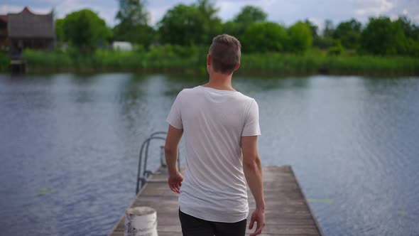
[[(0, 75), (0, 234), (106, 235), (134, 198), (141, 142), (204, 82)], [(259, 103), (263, 165), (293, 166), (325, 235), (419, 235), (419, 77), (233, 84)]]

